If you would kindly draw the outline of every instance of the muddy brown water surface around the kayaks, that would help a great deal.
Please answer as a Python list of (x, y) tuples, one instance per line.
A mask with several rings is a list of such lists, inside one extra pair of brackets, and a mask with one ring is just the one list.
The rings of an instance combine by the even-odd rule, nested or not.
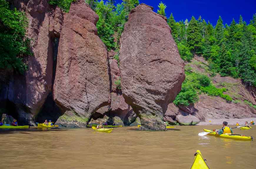
[[(166, 132), (114, 128), (112, 133), (87, 129), (1, 130), (1, 168), (190, 168), (200, 150), (210, 168), (256, 168), (255, 141), (198, 136), (221, 126), (177, 126)], [(251, 130), (235, 133), (255, 136)]]

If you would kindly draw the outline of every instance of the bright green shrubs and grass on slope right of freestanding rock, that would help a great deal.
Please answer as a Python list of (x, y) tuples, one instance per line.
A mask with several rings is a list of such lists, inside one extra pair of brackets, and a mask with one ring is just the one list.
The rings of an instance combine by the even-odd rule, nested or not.
[(232, 101), (229, 95), (223, 94), (227, 91), (226, 88), (215, 87), (207, 75), (192, 72), (191, 69), (191, 67), (185, 66), (186, 79), (182, 83), (181, 92), (173, 101), (175, 105), (189, 106), (189, 104), (196, 103), (199, 100), (198, 94), (202, 92), (209, 96), (219, 96), (227, 102)]

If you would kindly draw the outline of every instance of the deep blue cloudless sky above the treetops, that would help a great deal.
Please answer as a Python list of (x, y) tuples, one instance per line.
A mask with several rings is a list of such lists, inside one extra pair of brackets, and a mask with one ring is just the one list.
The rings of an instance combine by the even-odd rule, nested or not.
[[(157, 12), (157, 5), (161, 0), (139, 0), (140, 3), (144, 3), (154, 7), (154, 11)], [(122, 0), (117, 0), (122, 2)], [(203, 19), (208, 20), (215, 26), (219, 16), (222, 17), (223, 23), (230, 24), (232, 19), (238, 22), (240, 14), (247, 24), (252, 19), (254, 13), (256, 13), (256, 0), (162, 0), (167, 6), (165, 13), (169, 17), (173, 13), (176, 21), (185, 20), (190, 21), (192, 16), (197, 19), (200, 15)]]

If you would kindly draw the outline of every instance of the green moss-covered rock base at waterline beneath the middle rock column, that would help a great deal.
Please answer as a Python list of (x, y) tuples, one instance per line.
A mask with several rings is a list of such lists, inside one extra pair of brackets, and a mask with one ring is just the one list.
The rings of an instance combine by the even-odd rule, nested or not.
[(84, 118), (84, 116), (80, 116), (75, 111), (66, 111), (59, 119), (56, 121), (56, 125), (61, 127), (80, 127), (85, 128), (87, 127), (88, 119)]

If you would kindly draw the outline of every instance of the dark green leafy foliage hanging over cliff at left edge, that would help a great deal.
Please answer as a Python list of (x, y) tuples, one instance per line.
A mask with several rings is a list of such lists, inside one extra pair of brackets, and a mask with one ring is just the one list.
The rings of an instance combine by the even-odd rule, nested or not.
[(0, 69), (14, 69), (21, 74), (26, 70), (23, 58), (32, 55), (30, 39), (26, 37), (27, 27), (26, 14), (10, 10), (9, 3), (0, 0)]

